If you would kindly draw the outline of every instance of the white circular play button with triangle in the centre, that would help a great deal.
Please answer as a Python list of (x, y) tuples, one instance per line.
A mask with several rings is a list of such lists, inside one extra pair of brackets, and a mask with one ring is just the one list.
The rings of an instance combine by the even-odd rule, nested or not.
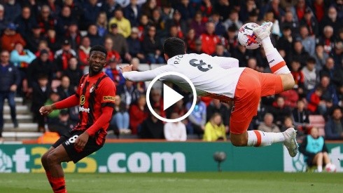
[[(167, 80), (172, 79), (172, 76), (179, 76), (178, 77), (179, 79), (181, 78), (181, 79), (185, 80), (189, 84), (190, 88), (192, 88), (192, 93), (193, 93), (192, 105), (190, 106), (190, 109), (188, 110), (188, 112), (186, 114), (183, 114), (182, 117), (179, 117), (177, 119), (167, 119), (165, 117), (161, 117), (159, 114), (157, 114), (153, 110), (153, 107), (151, 106), (151, 102), (150, 102), (151, 88), (153, 87), (153, 84), (155, 84), (156, 81), (158, 81), (159, 79), (161, 79), (164, 76), (169, 77), (169, 78), (167, 78)], [(170, 88), (166, 84), (163, 84), (163, 105), (164, 105), (163, 110), (168, 109), (169, 107), (171, 107), (172, 105), (174, 105), (176, 102), (178, 102), (181, 99), (183, 99), (183, 95), (180, 95), (178, 92), (174, 91), (172, 88)], [(156, 118), (160, 119), (161, 121), (165, 121), (165, 122), (178, 122), (178, 121), (182, 121), (183, 119), (186, 119), (193, 112), (193, 109), (195, 107), (196, 102), (197, 102), (197, 92), (195, 91), (195, 87), (194, 87), (192, 81), (190, 81), (190, 79), (188, 79), (187, 76), (185, 76), (179, 72), (165, 72), (165, 73), (162, 73), (162, 74), (156, 76), (155, 79), (153, 79), (151, 81), (151, 83), (148, 86), (148, 89), (146, 90), (146, 104), (148, 105), (150, 112)]]

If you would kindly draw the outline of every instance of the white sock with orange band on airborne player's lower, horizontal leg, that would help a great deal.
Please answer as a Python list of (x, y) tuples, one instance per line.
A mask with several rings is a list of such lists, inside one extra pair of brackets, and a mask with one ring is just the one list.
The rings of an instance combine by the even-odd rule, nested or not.
[(248, 142), (246, 146), (269, 146), (275, 142), (284, 142), (283, 133), (271, 133), (258, 130), (248, 131)]

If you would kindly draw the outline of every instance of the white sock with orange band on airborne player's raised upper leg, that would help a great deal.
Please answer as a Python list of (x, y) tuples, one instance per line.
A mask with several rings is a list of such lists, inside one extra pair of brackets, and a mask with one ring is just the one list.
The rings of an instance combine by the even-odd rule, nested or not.
[(267, 60), (269, 63), (269, 67), (274, 74), (289, 74), (290, 70), (286, 66), (285, 60), (283, 60), (282, 56), (280, 55), (279, 51), (276, 48), (272, 48), (272, 51), (269, 51), (266, 54)]

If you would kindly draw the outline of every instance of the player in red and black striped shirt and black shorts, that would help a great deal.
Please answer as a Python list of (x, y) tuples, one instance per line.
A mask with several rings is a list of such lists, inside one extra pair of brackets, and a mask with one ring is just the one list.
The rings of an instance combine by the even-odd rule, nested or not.
[(82, 77), (76, 94), (39, 110), (42, 115), (47, 115), (54, 109), (79, 105), (80, 121), (77, 126), (70, 135), (59, 138), (41, 158), (54, 192), (66, 192), (62, 162), (76, 163), (104, 145), (116, 95), (113, 81), (102, 72), (106, 56), (103, 46), (93, 46), (90, 58), (87, 58), (90, 73)]

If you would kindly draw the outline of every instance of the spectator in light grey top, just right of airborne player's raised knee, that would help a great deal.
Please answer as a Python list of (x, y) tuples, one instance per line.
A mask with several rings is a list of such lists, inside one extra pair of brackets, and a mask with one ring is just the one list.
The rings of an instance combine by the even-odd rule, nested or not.
[(308, 93), (316, 86), (316, 59), (312, 57), (307, 59), (306, 66), (302, 68), (302, 74), (304, 74), (304, 90)]

